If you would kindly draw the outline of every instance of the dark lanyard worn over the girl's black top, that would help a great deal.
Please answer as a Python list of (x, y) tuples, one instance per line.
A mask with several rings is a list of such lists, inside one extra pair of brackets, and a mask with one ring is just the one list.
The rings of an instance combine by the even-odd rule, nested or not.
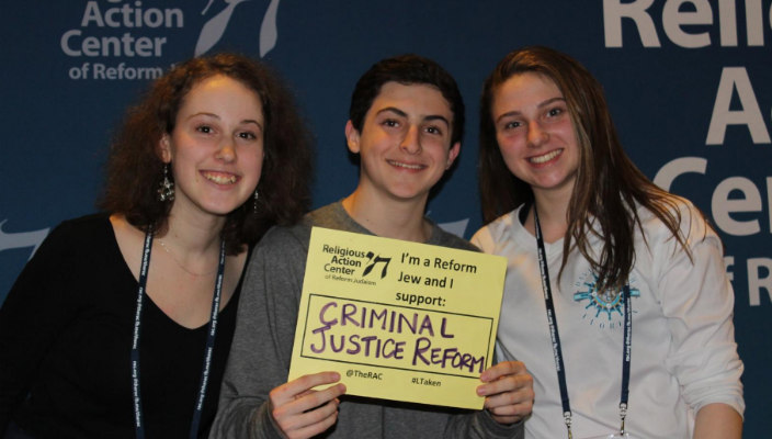
[[(139, 395), (139, 327), (141, 326), (143, 301), (147, 286), (147, 270), (150, 264), (150, 250), (152, 248), (152, 232), (145, 234), (145, 247), (143, 249), (143, 261), (139, 266), (139, 288), (137, 289), (137, 313), (134, 317), (134, 340), (132, 342), (132, 393), (134, 395), (134, 425), (137, 439), (145, 438), (145, 425), (143, 420), (141, 398)], [(198, 396), (193, 409), (193, 420), (191, 421), (190, 438), (198, 436), (198, 425), (201, 424), (201, 413), (204, 407), (206, 396), (206, 384), (209, 381), (209, 369), (212, 368), (212, 352), (215, 349), (215, 334), (217, 331), (217, 314), (219, 312), (219, 300), (223, 291), (223, 277), (225, 273), (225, 241), (219, 246), (219, 266), (217, 267), (217, 279), (215, 281), (215, 292), (212, 299), (212, 317), (207, 325), (208, 336), (206, 338), (206, 352), (204, 354), (204, 367), (201, 373), (201, 384), (198, 385)]]

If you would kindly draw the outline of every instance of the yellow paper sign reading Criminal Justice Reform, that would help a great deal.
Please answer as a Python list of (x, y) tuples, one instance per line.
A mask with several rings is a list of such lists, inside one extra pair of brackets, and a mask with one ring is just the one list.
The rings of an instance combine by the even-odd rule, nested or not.
[(338, 371), (347, 393), (481, 409), (507, 259), (314, 227), (290, 380)]

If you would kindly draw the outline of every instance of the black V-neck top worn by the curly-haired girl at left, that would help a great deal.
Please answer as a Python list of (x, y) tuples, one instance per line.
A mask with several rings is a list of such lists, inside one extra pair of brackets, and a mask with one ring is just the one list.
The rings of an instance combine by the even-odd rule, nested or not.
[[(152, 267), (150, 267), (152, 269)], [(214, 285), (213, 285), (214, 289)], [(217, 408), (241, 282), (220, 312), (200, 436)], [(56, 227), (0, 308), (0, 436), (133, 438), (137, 281), (106, 215)], [(148, 438), (188, 437), (207, 325), (178, 325), (145, 297), (140, 389)]]

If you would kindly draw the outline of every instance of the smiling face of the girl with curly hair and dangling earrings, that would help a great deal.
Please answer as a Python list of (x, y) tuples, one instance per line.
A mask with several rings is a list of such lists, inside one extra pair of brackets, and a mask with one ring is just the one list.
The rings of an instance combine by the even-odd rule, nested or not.
[(243, 83), (215, 75), (191, 88), (160, 142), (175, 182), (172, 214), (224, 216), (252, 196), (263, 161), (262, 105)]

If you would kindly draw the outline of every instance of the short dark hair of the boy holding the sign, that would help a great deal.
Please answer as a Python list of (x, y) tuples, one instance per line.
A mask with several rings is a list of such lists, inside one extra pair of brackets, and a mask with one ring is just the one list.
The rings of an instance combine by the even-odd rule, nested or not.
[(386, 82), (435, 87), (453, 113), (451, 145), (464, 137), (464, 99), (455, 79), (442, 66), (419, 55), (400, 55), (374, 64), (356, 82), (351, 94), (349, 119), (362, 132), (364, 117)]

